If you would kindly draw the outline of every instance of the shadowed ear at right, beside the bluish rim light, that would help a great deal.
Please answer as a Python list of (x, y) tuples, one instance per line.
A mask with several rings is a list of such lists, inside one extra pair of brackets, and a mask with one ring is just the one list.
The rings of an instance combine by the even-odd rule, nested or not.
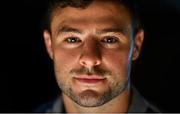
[(144, 31), (141, 29), (136, 33), (136, 36), (135, 36), (133, 60), (136, 60), (139, 57), (143, 40), (144, 40)]

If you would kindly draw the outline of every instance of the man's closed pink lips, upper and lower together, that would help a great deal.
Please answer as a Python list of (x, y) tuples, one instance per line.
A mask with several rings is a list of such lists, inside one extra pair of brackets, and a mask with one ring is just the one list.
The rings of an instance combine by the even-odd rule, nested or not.
[(76, 76), (74, 77), (75, 80), (82, 82), (82, 83), (88, 83), (88, 84), (94, 84), (98, 82), (102, 82), (105, 80), (104, 77), (102, 76), (97, 76), (97, 75), (81, 75), (81, 76)]

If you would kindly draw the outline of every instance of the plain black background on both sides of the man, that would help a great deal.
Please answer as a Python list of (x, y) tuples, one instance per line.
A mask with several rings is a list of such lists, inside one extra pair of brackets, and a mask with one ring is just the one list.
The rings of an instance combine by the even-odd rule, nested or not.
[[(1, 2), (0, 112), (31, 112), (57, 95), (40, 29), (47, 0)], [(132, 71), (142, 95), (180, 112), (180, 1), (140, 0), (145, 41)]]

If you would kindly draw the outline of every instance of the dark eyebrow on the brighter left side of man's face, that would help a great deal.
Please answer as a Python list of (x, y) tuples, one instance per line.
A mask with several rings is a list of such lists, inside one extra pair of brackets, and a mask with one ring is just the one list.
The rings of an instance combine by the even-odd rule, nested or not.
[(78, 30), (76, 28), (68, 27), (68, 26), (61, 27), (58, 30), (58, 34), (62, 33), (62, 32), (74, 32), (74, 33), (82, 34), (82, 31), (80, 31), (80, 30)]

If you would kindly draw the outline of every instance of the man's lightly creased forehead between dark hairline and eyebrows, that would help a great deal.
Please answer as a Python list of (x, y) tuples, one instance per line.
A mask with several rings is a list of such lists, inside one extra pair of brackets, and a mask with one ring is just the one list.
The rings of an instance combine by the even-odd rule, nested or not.
[(56, 8), (52, 14), (51, 30), (59, 26), (75, 27), (123, 27), (130, 26), (128, 10), (120, 3), (111, 1), (94, 1), (88, 7)]

